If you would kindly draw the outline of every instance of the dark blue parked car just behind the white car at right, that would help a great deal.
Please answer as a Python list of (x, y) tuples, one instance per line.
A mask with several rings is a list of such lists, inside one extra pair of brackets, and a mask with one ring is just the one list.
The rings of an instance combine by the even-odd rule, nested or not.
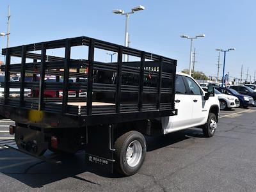
[(236, 96), (240, 101), (240, 106), (242, 108), (247, 108), (248, 106), (254, 106), (254, 100), (252, 97), (248, 95), (242, 95), (238, 93), (236, 90), (233, 90), (232, 88), (222, 88), (222, 87), (216, 87), (216, 90), (218, 90), (221, 93), (227, 94), (227, 95), (234, 95)]

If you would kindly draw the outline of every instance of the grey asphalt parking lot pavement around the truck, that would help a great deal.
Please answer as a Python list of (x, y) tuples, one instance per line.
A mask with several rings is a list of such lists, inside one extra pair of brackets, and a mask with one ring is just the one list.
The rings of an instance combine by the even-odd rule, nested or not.
[(11, 120), (0, 120), (0, 191), (255, 191), (256, 108), (221, 111), (213, 138), (187, 129), (147, 138), (140, 172), (131, 177), (93, 170), (83, 152), (54, 165), (4, 145)]

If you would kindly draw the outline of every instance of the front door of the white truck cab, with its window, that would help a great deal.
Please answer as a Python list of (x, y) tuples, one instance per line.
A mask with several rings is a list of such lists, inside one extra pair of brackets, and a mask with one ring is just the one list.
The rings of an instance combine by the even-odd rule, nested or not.
[(191, 77), (184, 76), (183, 78), (188, 88), (189, 102), (193, 105), (191, 124), (202, 124), (209, 113), (205, 106), (207, 101), (204, 99), (204, 93)]

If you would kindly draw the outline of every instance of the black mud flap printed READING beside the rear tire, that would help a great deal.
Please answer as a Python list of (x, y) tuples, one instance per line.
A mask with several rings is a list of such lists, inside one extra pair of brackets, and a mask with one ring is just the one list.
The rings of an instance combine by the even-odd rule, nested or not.
[(86, 127), (86, 163), (113, 173), (113, 125)]

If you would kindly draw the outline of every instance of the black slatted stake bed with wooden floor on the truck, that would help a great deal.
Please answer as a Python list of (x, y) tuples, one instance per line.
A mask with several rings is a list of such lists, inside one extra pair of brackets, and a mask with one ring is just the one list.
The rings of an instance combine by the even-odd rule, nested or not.
[[(60, 50), (63, 56), (49, 55)], [(117, 60), (99, 61), (100, 51), (104, 57), (116, 52)], [(123, 61), (124, 54), (131, 61)], [(3, 55), (0, 113), (20, 124), (83, 127), (177, 114), (176, 60), (86, 36), (10, 47)], [(20, 80), (11, 81), (17, 74)], [(24, 96), (28, 89), (31, 97)]]

